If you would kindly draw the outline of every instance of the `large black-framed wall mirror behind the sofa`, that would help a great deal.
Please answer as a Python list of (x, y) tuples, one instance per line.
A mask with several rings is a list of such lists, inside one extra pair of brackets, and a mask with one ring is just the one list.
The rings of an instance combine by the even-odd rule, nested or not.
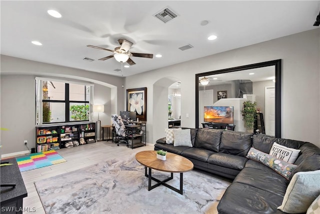
[(233, 106), (235, 130), (245, 131), (241, 115), (245, 100), (257, 103), (263, 133), (281, 137), (280, 59), (195, 74), (195, 127), (205, 123), (204, 107)]

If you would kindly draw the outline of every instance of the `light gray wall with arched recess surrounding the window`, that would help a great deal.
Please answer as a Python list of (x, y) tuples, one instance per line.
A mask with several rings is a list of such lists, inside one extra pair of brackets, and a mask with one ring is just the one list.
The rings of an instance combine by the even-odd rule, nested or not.
[(8, 129), (0, 132), (1, 154), (26, 151), (23, 140), (35, 147), (35, 76), (93, 83), (93, 104), (104, 105), (101, 125), (111, 124), (110, 115), (124, 105), (122, 77), (1, 55), (0, 126)]

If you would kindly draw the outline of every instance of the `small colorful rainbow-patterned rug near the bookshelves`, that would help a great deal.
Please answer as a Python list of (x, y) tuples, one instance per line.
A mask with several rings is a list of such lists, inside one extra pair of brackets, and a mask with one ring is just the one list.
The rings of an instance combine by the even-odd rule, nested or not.
[(20, 172), (63, 163), (65, 161), (66, 160), (54, 150), (16, 157), (16, 162), (19, 166)]

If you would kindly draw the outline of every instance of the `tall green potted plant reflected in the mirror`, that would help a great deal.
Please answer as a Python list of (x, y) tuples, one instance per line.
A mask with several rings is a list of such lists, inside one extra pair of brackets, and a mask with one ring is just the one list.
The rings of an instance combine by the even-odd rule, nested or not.
[(250, 100), (243, 102), (243, 109), (241, 110), (242, 117), (244, 120), (244, 126), (247, 132), (253, 132), (253, 124), (256, 114), (256, 102)]

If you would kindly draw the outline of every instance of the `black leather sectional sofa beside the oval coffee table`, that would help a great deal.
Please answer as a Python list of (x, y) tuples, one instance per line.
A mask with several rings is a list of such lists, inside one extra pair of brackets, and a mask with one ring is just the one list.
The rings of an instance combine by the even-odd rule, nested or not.
[(289, 180), (246, 158), (251, 147), (269, 153), (276, 142), (301, 150), (292, 175), (320, 169), (320, 148), (312, 143), (224, 130), (190, 129), (190, 132), (193, 147), (173, 146), (161, 138), (154, 144), (154, 150), (182, 155), (192, 161), (194, 168), (233, 179), (217, 206), (219, 213), (284, 213), (277, 207), (282, 203)]

